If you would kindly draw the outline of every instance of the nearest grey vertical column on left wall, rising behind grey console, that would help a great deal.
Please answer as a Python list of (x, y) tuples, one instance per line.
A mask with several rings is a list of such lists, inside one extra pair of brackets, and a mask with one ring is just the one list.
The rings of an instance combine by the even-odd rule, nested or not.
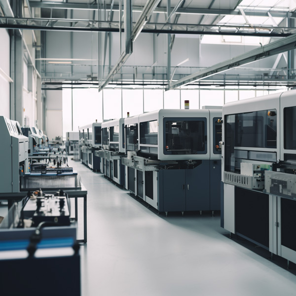
[(24, 42), (20, 31), (13, 31), (11, 36), (11, 78), (10, 85), (10, 116), (17, 120), (20, 125), (23, 121), (23, 63), (24, 63)]

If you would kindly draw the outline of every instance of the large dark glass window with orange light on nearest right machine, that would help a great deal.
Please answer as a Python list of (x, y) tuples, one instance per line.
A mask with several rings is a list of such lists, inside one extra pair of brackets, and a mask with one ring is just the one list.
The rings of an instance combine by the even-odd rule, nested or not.
[(263, 110), (225, 116), (225, 171), (240, 173), (247, 150), (236, 148), (276, 148), (276, 110)]

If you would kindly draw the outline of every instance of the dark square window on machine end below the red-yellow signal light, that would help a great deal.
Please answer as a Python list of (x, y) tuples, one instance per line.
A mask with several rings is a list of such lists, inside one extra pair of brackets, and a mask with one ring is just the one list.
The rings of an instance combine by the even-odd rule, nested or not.
[(206, 118), (163, 119), (164, 154), (206, 154)]

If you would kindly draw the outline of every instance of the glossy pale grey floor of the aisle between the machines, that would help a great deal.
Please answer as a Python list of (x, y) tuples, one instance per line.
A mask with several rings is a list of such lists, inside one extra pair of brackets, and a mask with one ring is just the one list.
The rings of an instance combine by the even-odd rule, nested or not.
[(88, 190), (82, 296), (296, 295), (296, 276), (230, 240), (220, 217), (156, 215), (102, 174), (70, 164)]

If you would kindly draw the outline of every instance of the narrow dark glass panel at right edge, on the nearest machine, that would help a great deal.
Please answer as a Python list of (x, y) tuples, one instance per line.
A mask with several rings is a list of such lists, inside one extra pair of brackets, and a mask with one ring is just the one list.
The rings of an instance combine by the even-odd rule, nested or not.
[(296, 107), (284, 108), (284, 148), (296, 150)]

